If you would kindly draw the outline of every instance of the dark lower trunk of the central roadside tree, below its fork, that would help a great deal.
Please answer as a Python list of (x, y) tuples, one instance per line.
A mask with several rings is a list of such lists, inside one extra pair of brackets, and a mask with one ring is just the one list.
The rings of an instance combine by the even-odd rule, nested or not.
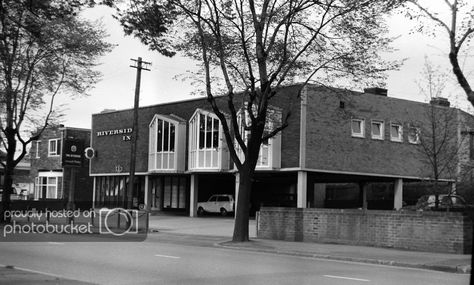
[(249, 241), (249, 204), (252, 192), (254, 171), (247, 165), (239, 171), (239, 192), (237, 194), (237, 209), (235, 213), (234, 235), (232, 241)]

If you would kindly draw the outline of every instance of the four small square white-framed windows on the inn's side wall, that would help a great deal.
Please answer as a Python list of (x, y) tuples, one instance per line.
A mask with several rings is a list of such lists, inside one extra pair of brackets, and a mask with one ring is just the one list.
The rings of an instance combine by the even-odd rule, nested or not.
[[(403, 142), (403, 125), (399, 123), (390, 122), (390, 141)], [(365, 120), (352, 119), (351, 133), (353, 137), (365, 138)], [(371, 120), (370, 122), (370, 137), (374, 140), (385, 139), (385, 123), (381, 120)], [(417, 127), (408, 128), (408, 142), (411, 144), (420, 143), (420, 129)]]

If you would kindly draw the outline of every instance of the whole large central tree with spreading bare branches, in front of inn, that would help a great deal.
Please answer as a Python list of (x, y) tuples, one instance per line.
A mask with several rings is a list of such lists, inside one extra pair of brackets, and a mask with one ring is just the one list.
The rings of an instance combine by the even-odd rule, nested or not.
[[(117, 16), (127, 34), (164, 55), (180, 53), (201, 63), (204, 93), (240, 177), (234, 241), (249, 239), (249, 200), (261, 144), (288, 127), (291, 110), (283, 111), (272, 129), (265, 127), (272, 101), (283, 96), (281, 87), (337, 78), (380, 82), (383, 72), (395, 67), (379, 52), (391, 41), (382, 16), (399, 1), (130, 2)], [(225, 108), (216, 95), (225, 95)], [(239, 120), (242, 108), (248, 120)]]

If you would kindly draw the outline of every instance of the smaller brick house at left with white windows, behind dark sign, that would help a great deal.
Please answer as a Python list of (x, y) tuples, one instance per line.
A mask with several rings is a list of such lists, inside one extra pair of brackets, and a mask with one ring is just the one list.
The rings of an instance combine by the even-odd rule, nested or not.
[(70, 194), (76, 208), (92, 206), (92, 179), (84, 158), (89, 143), (90, 130), (63, 125), (46, 128), (33, 142), (30, 176), (35, 183), (35, 207), (65, 208)]

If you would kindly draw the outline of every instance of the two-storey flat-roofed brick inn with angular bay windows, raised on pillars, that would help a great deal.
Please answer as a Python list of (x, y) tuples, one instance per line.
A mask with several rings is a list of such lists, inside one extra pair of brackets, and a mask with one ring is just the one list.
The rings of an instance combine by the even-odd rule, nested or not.
[[(289, 127), (260, 150), (254, 210), (261, 205), (399, 209), (411, 182), (433, 176), (420, 152), (420, 129), (429, 124), (423, 114), (430, 108), (455, 114), (449, 143), (460, 145), (449, 167), (456, 171), (441, 173), (440, 181), (458, 182), (459, 194), (474, 192), (471, 115), (439, 101), (390, 98), (377, 88), (360, 93), (294, 85), (278, 92), (270, 103), (273, 117), (281, 120), (291, 109)], [(218, 104), (225, 110), (224, 100)], [(193, 216), (198, 201), (235, 193), (238, 175), (205, 98), (141, 107), (138, 131), (134, 206)], [(133, 135), (132, 110), (92, 116), (95, 207), (125, 205)]]

